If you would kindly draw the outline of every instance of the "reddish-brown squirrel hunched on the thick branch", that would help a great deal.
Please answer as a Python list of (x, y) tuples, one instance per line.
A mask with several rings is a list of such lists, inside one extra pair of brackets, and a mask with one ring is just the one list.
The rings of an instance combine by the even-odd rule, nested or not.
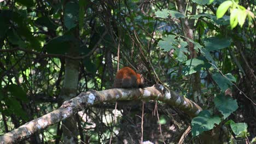
[(114, 88), (143, 88), (144, 78), (141, 74), (136, 74), (129, 67), (118, 70), (114, 80)]

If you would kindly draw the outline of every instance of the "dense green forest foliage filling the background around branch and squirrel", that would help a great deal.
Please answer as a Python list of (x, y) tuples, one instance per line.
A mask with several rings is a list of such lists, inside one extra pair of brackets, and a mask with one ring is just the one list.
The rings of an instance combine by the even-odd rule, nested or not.
[[(119, 65), (143, 74), (147, 86), (161, 83), (202, 107), (192, 119), (158, 103), (158, 121), (152, 115), (157, 102), (147, 101), (144, 141), (177, 143), (191, 125), (185, 143), (197, 143), (207, 134), (217, 135), (220, 143), (255, 142), (254, 4), (244, 0), (1, 2), (0, 135), (60, 106), (63, 81), (70, 76), (65, 70), (67, 59), (72, 59), (79, 62), (75, 95), (112, 88)], [(138, 143), (142, 103), (120, 106), (115, 123), (114, 107), (95, 105), (77, 115), (79, 141), (109, 142), (114, 129), (113, 143)], [(59, 143), (61, 128), (61, 123), (53, 125), (30, 142)]]

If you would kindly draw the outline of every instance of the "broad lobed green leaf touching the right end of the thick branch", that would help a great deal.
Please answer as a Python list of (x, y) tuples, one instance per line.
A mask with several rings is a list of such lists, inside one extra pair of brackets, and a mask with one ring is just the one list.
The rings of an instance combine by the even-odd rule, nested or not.
[(221, 122), (220, 117), (211, 116), (211, 113), (208, 110), (203, 110), (192, 119), (192, 136), (195, 137), (200, 135), (203, 131), (208, 131), (214, 128), (215, 124)]

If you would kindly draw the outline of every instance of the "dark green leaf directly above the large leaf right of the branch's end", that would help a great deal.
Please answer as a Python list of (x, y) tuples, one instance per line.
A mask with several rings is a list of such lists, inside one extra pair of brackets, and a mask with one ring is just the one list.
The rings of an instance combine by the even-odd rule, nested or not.
[(222, 92), (225, 92), (226, 89), (232, 86), (232, 83), (228, 79), (226, 79), (226, 77), (222, 76), (220, 73), (213, 73), (212, 79), (217, 83)]

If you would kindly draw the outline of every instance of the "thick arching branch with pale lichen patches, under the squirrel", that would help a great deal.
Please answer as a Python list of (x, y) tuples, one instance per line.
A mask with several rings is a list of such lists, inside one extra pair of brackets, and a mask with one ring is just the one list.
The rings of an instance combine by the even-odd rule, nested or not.
[(106, 91), (89, 91), (80, 93), (77, 97), (65, 101), (59, 109), (0, 136), (0, 143), (19, 142), (27, 139), (36, 131), (43, 130), (74, 115), (78, 111), (84, 110), (87, 106), (117, 100), (160, 100), (173, 107), (177, 107), (191, 117), (196, 116), (201, 111), (201, 107), (193, 101), (179, 96), (162, 85), (139, 89), (114, 88)]

